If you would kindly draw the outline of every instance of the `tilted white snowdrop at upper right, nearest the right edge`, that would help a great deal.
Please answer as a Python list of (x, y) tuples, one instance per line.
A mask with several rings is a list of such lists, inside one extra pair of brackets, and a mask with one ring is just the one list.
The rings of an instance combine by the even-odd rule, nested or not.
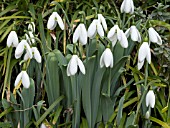
[(161, 37), (152, 27), (149, 28), (148, 33), (149, 33), (150, 42), (157, 43), (158, 45), (162, 45)]

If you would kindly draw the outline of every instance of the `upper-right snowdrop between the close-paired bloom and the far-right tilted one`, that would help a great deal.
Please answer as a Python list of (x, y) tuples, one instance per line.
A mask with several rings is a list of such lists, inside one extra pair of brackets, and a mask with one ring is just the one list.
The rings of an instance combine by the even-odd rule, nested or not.
[(141, 42), (140, 33), (138, 29), (136, 28), (136, 26), (134, 25), (131, 26), (128, 30), (126, 30), (125, 35), (127, 38), (130, 36), (133, 41)]

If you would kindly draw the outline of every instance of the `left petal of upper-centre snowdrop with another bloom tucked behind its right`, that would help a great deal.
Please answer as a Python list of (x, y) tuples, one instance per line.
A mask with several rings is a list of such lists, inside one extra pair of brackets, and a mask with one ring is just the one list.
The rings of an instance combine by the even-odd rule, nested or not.
[(87, 31), (87, 35), (89, 38), (93, 38), (97, 32), (97, 24), (96, 24), (96, 20), (93, 20), (92, 23), (90, 24), (88, 31)]

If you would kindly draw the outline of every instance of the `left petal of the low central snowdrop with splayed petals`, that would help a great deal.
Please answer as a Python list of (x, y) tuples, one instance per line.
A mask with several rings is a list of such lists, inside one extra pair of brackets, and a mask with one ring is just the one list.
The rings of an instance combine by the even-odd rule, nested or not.
[[(68, 72), (70, 75), (75, 75), (77, 73), (77, 55), (73, 55), (68, 64)], [(67, 74), (69, 76), (69, 74)]]

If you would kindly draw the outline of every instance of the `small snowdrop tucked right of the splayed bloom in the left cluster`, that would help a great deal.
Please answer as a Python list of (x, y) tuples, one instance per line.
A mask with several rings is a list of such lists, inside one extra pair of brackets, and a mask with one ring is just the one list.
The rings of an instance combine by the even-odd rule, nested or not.
[[(31, 51), (32, 51), (32, 55), (33, 55), (33, 58), (38, 62), (38, 63), (41, 63), (41, 55), (40, 55), (40, 52), (38, 51), (38, 49), (36, 47), (32, 47), (31, 48)], [(24, 56), (24, 60), (27, 61), (28, 59), (31, 59), (30, 56), (29, 56), (29, 53), (27, 52)]]

